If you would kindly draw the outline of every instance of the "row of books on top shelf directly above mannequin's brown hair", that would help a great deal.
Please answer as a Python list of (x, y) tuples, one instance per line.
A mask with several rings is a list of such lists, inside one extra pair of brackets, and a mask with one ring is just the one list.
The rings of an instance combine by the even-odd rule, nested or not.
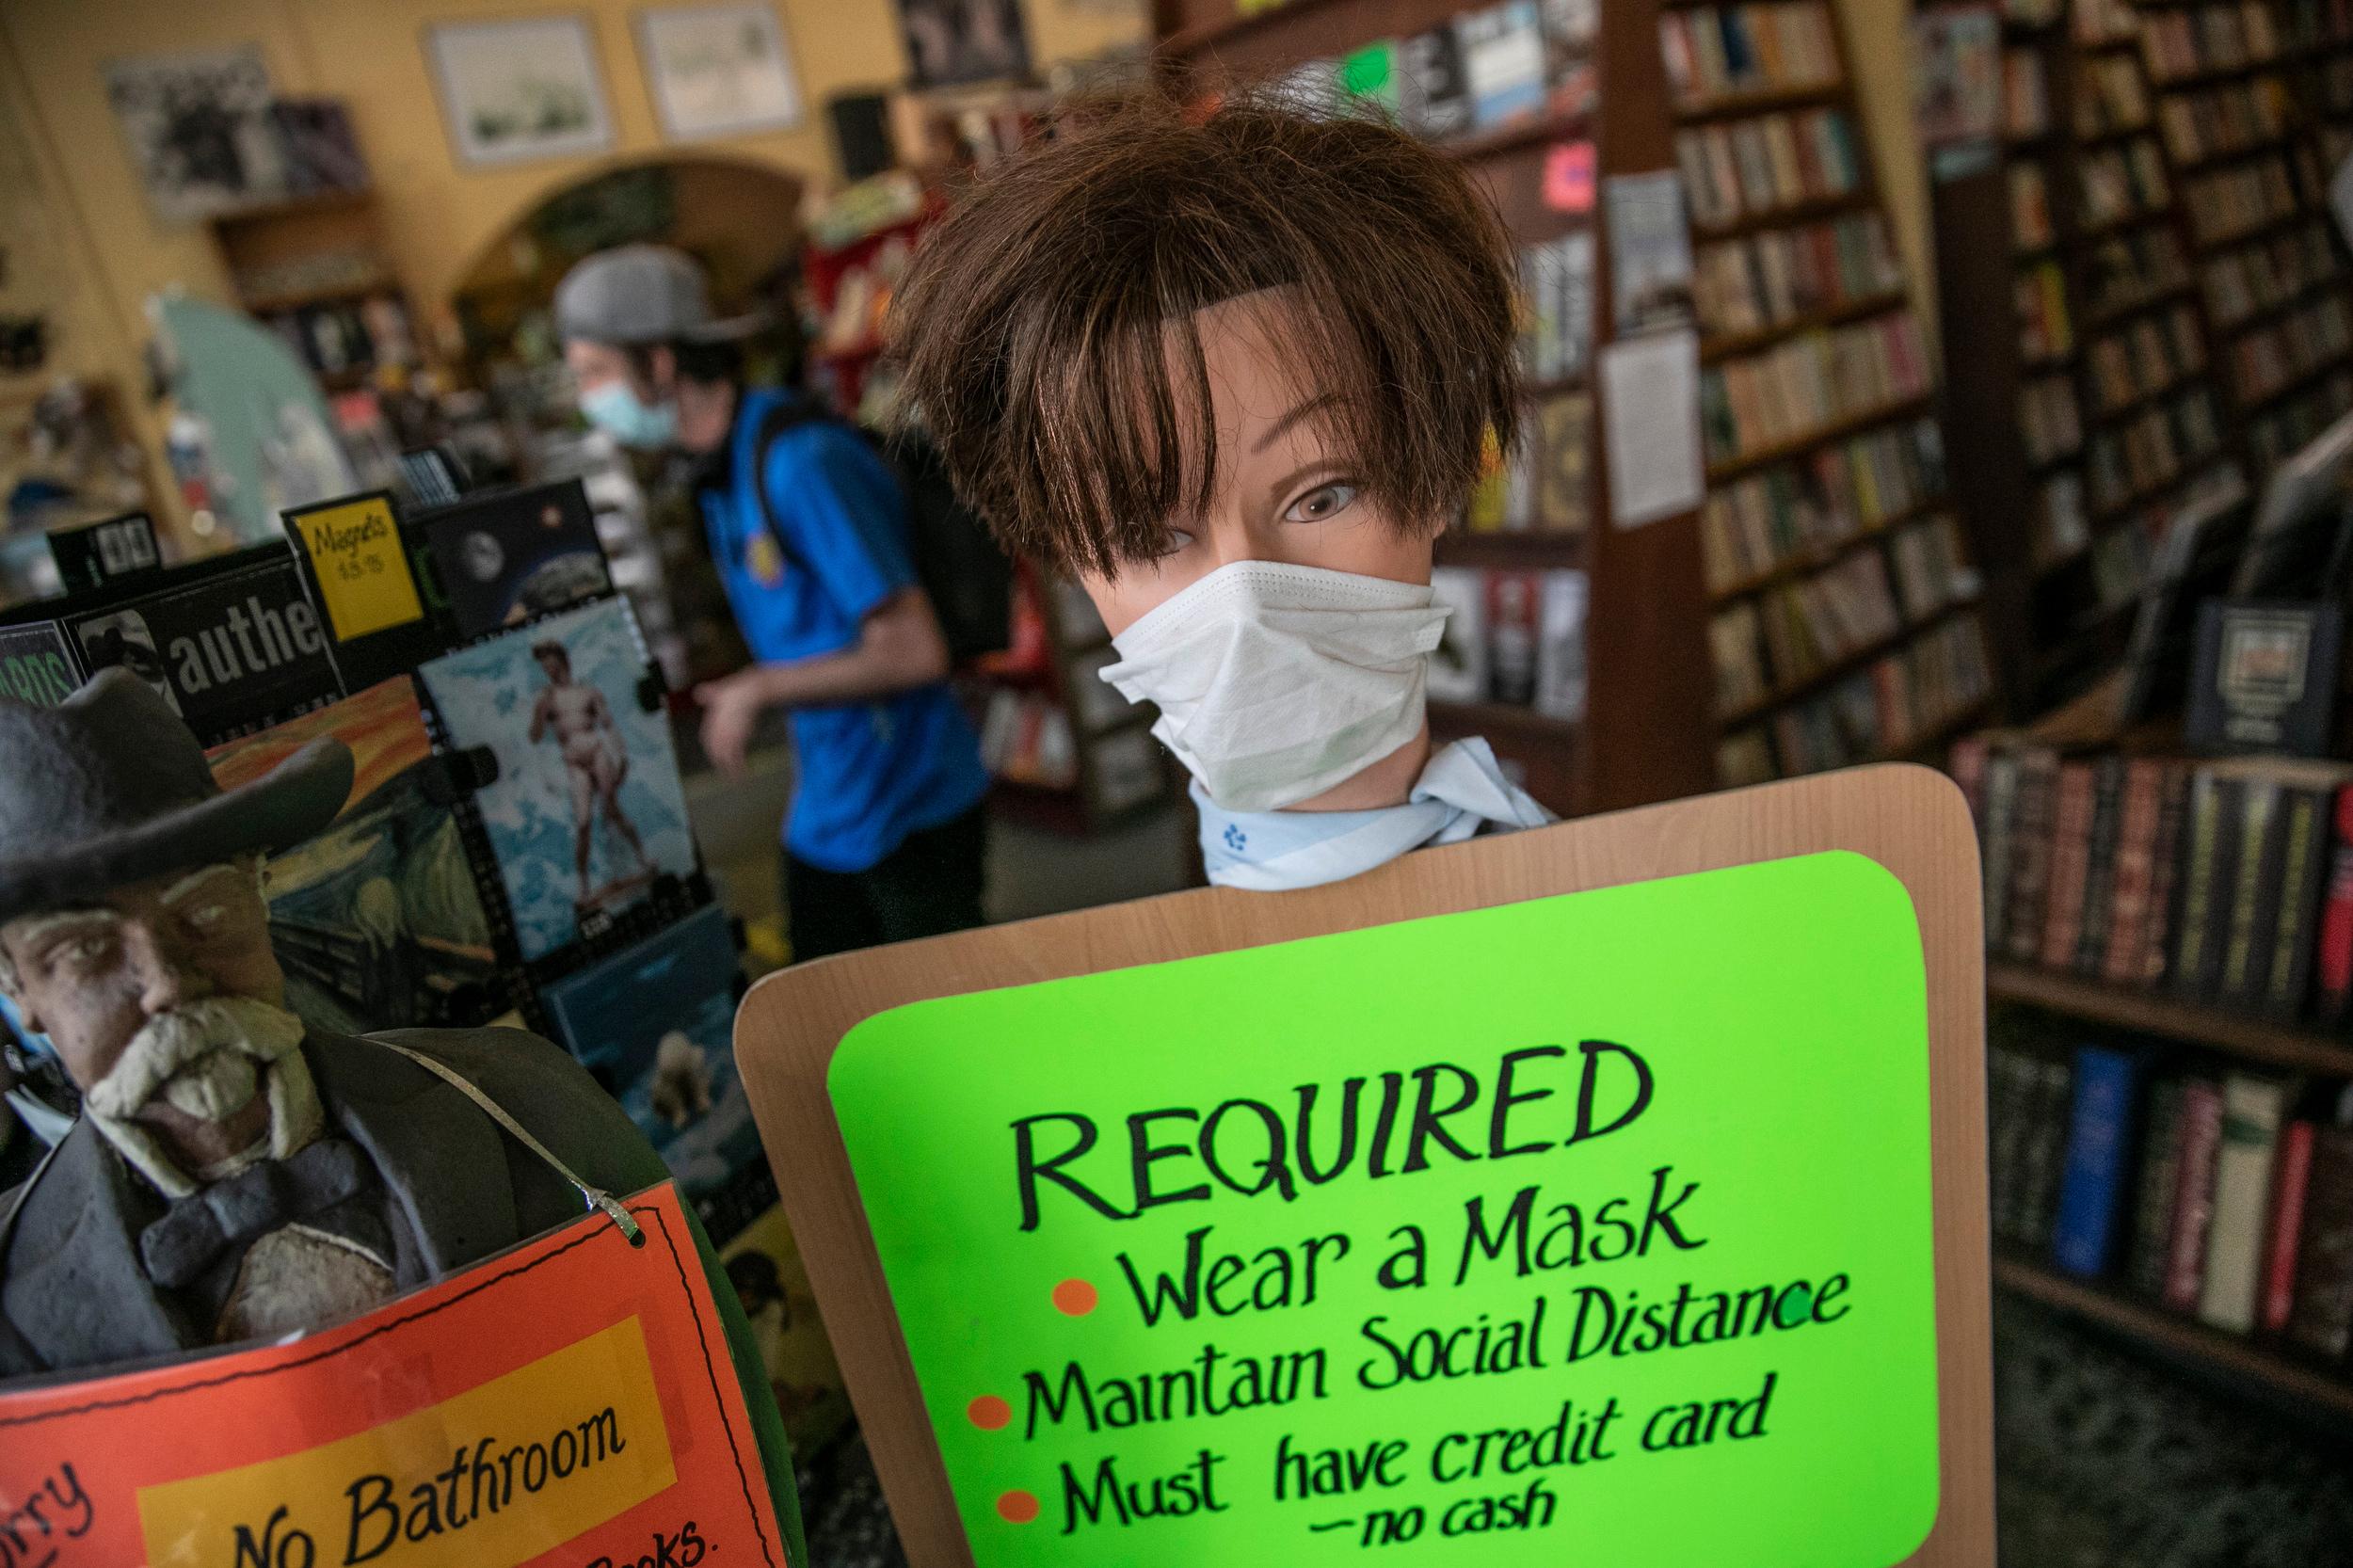
[(1595, 0), (1501, 0), (1409, 38), (1292, 68), (1278, 92), (1311, 108), (1365, 104), (1428, 141), (1588, 113)]

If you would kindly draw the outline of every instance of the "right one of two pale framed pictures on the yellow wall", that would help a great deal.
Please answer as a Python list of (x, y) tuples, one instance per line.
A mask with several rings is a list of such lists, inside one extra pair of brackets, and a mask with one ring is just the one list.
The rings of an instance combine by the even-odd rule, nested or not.
[(765, 2), (638, 12), (638, 54), (673, 141), (800, 125), (793, 52)]

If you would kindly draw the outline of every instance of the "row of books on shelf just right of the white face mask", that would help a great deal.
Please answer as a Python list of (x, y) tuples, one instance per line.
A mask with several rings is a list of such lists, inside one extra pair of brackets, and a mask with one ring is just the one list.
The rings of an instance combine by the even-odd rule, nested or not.
[(1508, 702), (1574, 723), (1586, 711), (1586, 574), (1438, 567), (1449, 607), (1431, 655), (1431, 702)]

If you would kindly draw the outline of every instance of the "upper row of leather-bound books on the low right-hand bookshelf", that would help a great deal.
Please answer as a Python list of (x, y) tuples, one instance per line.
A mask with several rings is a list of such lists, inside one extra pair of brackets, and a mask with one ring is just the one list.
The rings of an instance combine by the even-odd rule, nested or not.
[(2353, 768), (1953, 746), (1986, 876), (1986, 946), (2275, 1019), (2353, 1003)]

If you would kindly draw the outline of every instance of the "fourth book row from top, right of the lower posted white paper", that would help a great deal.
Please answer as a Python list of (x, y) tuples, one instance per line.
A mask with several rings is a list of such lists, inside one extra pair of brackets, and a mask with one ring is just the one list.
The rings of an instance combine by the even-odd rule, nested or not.
[(1927, 386), (1927, 353), (1911, 311), (1805, 332), (1701, 372), (1699, 417), (1708, 461), (1798, 440), (1915, 398)]

